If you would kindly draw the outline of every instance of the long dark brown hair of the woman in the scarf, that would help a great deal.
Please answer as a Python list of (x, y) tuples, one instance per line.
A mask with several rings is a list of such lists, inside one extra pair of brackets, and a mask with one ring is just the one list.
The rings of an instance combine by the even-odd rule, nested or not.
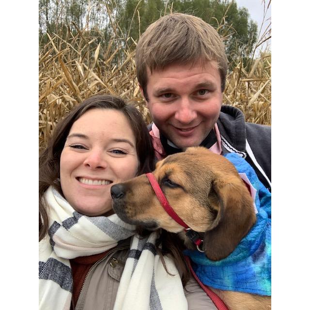
[[(137, 154), (140, 163), (137, 174), (150, 172), (155, 168), (151, 137), (140, 112), (133, 105), (112, 95), (95, 95), (86, 99), (57, 124), (48, 141), (47, 148), (39, 156), (39, 241), (45, 237), (48, 229), (48, 209), (44, 201), (44, 194), (49, 186), (54, 186), (62, 194), (60, 185), (62, 149), (73, 123), (90, 109), (115, 109), (124, 113), (137, 140)], [(159, 248), (160, 244), (161, 248)], [(171, 256), (180, 271), (182, 282), (185, 284), (189, 279), (189, 271), (182, 253), (184, 245), (179, 237), (174, 233), (162, 231), (156, 248), (164, 266), (163, 255)], [(167, 269), (166, 271), (169, 272)]]

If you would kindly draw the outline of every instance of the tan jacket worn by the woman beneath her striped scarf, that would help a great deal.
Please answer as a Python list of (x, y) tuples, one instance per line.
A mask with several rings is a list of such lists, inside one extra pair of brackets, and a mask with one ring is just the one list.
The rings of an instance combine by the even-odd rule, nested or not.
[[(124, 241), (91, 267), (79, 293), (75, 310), (113, 310), (128, 253), (129, 242)], [(193, 278), (187, 283), (184, 293), (189, 310), (217, 309)]]

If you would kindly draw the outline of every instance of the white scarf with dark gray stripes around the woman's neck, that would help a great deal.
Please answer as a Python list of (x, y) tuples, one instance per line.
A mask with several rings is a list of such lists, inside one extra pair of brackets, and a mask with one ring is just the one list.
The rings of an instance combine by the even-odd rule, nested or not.
[[(39, 310), (69, 310), (73, 279), (69, 259), (103, 253), (132, 236), (114, 310), (187, 309), (178, 271), (168, 257), (169, 275), (155, 250), (156, 232), (141, 239), (135, 226), (117, 215), (87, 217), (76, 212), (53, 188), (48, 235), (39, 243)], [(173, 276), (174, 275), (174, 276)]]

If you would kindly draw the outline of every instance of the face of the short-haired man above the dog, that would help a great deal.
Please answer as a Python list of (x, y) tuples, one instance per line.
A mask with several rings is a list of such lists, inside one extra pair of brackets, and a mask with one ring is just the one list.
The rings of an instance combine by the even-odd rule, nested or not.
[(146, 91), (155, 125), (181, 149), (200, 145), (219, 116), (221, 79), (210, 62), (148, 70)]

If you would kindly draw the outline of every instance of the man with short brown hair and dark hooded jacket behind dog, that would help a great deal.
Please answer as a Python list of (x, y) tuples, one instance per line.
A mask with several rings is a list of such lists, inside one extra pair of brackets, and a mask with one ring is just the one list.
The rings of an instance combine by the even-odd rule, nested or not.
[(238, 153), (271, 190), (271, 127), (222, 106), (227, 58), (217, 31), (195, 16), (163, 16), (140, 37), (136, 67), (158, 159), (199, 145)]

